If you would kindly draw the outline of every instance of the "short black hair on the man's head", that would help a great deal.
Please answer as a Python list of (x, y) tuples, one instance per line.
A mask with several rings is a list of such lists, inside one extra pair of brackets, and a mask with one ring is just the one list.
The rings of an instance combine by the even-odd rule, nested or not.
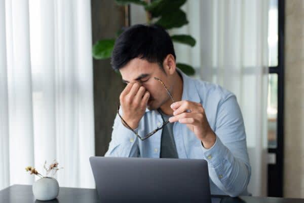
[(127, 28), (116, 40), (111, 65), (115, 71), (124, 67), (133, 58), (157, 62), (163, 68), (168, 54), (176, 59), (172, 40), (159, 25), (136, 24)]

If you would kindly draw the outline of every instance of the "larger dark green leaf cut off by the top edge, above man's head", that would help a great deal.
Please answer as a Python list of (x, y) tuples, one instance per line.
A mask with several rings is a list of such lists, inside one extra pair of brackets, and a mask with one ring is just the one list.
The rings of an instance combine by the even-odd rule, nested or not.
[(177, 11), (186, 0), (156, 0), (144, 7), (151, 13), (152, 17), (159, 17), (166, 13), (174, 13)]

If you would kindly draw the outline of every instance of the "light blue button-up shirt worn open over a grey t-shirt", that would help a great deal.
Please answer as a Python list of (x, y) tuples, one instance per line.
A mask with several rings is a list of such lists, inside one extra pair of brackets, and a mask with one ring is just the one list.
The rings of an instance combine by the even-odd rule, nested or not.
[[(201, 103), (209, 125), (216, 134), (215, 144), (206, 149), (185, 124), (175, 122), (173, 133), (178, 157), (207, 160), (211, 194), (248, 195), (251, 166), (243, 117), (236, 96), (218, 85), (178, 72), (183, 79), (182, 100)], [(158, 111), (146, 109), (136, 130), (143, 137), (161, 126), (162, 122)], [(122, 124), (117, 115), (105, 156), (159, 158), (161, 135), (162, 130), (159, 130), (141, 141)]]

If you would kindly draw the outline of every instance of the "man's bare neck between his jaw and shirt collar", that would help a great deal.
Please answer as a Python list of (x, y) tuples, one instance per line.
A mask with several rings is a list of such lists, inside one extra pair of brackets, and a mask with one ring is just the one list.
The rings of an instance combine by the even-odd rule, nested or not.
[[(176, 71), (174, 74), (174, 78), (172, 81), (174, 82), (173, 89), (171, 90), (171, 94), (174, 98), (174, 101), (180, 101), (182, 97), (183, 91), (183, 80), (181, 75)], [(168, 87), (169, 88), (169, 87)], [(173, 110), (171, 109), (172, 100), (169, 98), (165, 104), (163, 104), (160, 109), (166, 115), (173, 115)]]

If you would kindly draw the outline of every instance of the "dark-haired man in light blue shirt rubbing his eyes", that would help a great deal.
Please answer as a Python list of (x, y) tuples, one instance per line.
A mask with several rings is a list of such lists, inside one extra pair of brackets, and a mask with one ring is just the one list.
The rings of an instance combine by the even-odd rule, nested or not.
[(235, 95), (186, 76), (175, 61), (159, 26), (134, 25), (117, 39), (111, 64), (127, 86), (105, 156), (206, 159), (212, 194), (248, 194), (251, 167)]

